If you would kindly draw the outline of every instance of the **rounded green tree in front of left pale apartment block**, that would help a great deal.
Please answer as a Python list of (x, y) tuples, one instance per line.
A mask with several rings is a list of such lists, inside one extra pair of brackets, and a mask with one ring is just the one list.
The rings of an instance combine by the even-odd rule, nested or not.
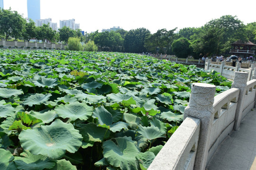
[(37, 40), (42, 40), (42, 42), (45, 42), (46, 39), (48, 41), (55, 41), (55, 33), (49, 24), (43, 24), (43, 26), (37, 26), (36, 29), (36, 38)]

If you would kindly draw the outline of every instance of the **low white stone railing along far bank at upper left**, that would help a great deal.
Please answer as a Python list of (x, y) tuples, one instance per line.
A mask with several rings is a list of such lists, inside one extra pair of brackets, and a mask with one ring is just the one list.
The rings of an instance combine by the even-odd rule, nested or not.
[(18, 41), (5, 41), (0, 40), (0, 46), (3, 48), (30, 48), (30, 49), (59, 49), (64, 50), (64, 47), (67, 44), (55, 44), (55, 43), (47, 43), (47, 42), (18, 42)]

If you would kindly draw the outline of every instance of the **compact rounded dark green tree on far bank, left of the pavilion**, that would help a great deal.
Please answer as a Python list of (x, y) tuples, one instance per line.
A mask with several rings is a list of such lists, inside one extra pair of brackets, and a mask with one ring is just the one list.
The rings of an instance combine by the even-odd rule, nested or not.
[(191, 54), (191, 46), (188, 39), (182, 37), (172, 43), (172, 48), (178, 58), (187, 58)]

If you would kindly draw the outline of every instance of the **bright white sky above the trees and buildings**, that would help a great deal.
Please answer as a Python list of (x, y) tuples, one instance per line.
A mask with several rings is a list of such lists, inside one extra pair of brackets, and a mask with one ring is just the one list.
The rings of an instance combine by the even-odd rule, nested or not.
[[(237, 16), (245, 25), (256, 22), (256, 0), (41, 0), (41, 19), (75, 19), (88, 33), (113, 26), (124, 30), (201, 27), (224, 15)], [(4, 9), (27, 17), (27, 0), (4, 0)]]

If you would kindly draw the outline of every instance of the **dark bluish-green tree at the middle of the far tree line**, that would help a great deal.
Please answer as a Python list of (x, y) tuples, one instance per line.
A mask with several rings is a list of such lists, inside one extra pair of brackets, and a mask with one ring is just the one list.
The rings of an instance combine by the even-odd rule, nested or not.
[(137, 28), (128, 31), (124, 36), (125, 51), (135, 53), (146, 51), (144, 41), (147, 34), (150, 34), (150, 31), (146, 28)]

